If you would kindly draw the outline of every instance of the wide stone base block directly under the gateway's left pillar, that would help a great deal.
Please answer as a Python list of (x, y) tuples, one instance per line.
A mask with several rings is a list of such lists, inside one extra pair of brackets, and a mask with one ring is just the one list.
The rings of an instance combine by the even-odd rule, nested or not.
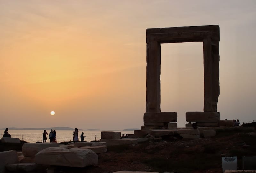
[(146, 112), (144, 122), (177, 122), (177, 112)]

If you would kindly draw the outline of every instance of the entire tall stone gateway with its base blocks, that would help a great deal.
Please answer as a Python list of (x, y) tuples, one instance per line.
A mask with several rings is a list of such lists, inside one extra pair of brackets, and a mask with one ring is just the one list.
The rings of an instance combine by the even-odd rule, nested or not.
[(176, 112), (161, 112), (160, 109), (161, 43), (203, 42), (204, 112), (187, 112), (186, 121), (199, 122), (201, 126), (207, 123), (218, 126), (219, 41), (218, 25), (147, 29), (146, 113), (141, 130), (168, 127), (168, 123), (177, 122)]

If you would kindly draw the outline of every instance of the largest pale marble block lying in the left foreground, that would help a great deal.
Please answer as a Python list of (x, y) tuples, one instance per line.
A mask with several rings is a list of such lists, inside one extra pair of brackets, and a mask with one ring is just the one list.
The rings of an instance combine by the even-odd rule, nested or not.
[(36, 154), (36, 163), (69, 167), (98, 164), (98, 155), (90, 149), (49, 147)]

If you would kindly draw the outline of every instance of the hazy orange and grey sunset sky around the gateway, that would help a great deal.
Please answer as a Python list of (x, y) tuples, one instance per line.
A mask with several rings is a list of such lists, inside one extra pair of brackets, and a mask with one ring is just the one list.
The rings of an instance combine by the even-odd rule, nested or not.
[[(221, 119), (256, 120), (256, 1), (0, 1), (0, 128), (141, 128), (146, 29), (220, 26)], [(203, 111), (203, 43), (161, 44), (161, 111)], [(50, 112), (55, 111), (55, 115)]]

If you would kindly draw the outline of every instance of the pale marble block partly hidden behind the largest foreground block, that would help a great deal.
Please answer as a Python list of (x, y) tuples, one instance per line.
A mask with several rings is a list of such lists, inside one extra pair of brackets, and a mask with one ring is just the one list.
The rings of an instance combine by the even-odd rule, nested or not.
[(25, 157), (35, 157), (36, 153), (39, 151), (48, 148), (48, 147), (59, 147), (59, 143), (31, 143), (31, 144), (23, 144), (22, 153)]

